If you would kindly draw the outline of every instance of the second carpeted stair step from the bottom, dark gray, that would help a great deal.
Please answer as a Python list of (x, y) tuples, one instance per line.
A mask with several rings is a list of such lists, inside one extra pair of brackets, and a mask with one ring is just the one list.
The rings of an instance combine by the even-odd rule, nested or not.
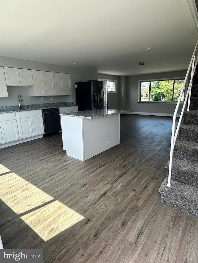
[[(169, 161), (165, 167), (168, 174)], [(171, 179), (198, 187), (198, 164), (173, 158)]]

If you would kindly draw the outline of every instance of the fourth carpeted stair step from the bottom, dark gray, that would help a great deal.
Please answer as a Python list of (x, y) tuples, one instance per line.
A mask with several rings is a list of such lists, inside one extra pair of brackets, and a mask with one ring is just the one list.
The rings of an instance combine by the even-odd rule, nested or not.
[(198, 125), (181, 124), (178, 140), (198, 143)]

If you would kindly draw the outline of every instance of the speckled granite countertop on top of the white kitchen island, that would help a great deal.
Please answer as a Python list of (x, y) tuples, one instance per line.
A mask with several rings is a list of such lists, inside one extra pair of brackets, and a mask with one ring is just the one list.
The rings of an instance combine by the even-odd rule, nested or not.
[(94, 119), (104, 117), (112, 114), (126, 113), (128, 110), (125, 109), (91, 109), (83, 110), (78, 112), (61, 113), (61, 116), (78, 117), (84, 119)]

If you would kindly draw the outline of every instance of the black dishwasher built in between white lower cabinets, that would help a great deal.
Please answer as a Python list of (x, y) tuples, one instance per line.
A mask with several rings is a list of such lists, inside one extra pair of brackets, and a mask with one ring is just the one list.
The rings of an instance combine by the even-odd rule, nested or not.
[(42, 109), (45, 135), (58, 133), (61, 129), (59, 109)]

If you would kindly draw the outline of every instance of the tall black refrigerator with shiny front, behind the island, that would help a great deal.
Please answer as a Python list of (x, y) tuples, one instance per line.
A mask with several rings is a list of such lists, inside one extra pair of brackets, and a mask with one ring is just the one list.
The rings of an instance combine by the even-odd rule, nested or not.
[(89, 80), (75, 83), (78, 110), (107, 109), (107, 87), (104, 81)]

